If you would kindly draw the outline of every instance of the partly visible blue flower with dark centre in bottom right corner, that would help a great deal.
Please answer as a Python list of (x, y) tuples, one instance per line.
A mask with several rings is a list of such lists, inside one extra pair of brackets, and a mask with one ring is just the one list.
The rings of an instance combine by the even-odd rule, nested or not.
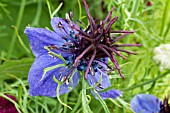
[(154, 95), (138, 94), (130, 103), (135, 113), (170, 113), (168, 98), (162, 102)]

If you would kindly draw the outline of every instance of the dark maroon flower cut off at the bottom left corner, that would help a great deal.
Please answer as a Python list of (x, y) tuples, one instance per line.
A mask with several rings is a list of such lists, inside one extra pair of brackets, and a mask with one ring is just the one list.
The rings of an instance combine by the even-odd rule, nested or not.
[[(12, 95), (6, 96), (15, 102), (17, 101), (16, 98)], [(18, 113), (18, 111), (12, 102), (0, 96), (0, 113)]]

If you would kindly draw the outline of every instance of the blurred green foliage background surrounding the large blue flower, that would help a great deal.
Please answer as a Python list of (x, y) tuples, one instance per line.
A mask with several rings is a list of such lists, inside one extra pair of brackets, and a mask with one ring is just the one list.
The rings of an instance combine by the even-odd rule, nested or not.
[[(163, 99), (170, 94), (169, 70), (159, 71), (159, 65), (153, 60), (153, 50), (161, 44), (170, 43), (170, 1), (169, 0), (86, 0), (91, 15), (103, 20), (112, 7), (112, 17), (118, 16), (112, 26), (115, 30), (135, 30), (121, 43), (140, 43), (141, 47), (125, 49), (138, 52), (128, 56), (129, 60), (119, 57), (125, 79), (117, 72), (111, 73), (112, 85), (124, 92), (119, 99), (108, 99), (106, 104), (111, 113), (131, 113), (129, 101), (138, 93), (149, 93)], [(15, 103), (23, 113), (70, 113), (56, 98), (30, 97), (28, 95), (27, 75), (34, 61), (27, 36), (26, 26), (48, 27), (50, 10), (60, 8), (55, 16), (65, 18), (73, 12), (74, 20), (80, 19), (86, 25), (87, 17), (81, 0), (0, 0), (0, 95), (15, 95)], [(62, 3), (62, 4), (61, 4)], [(61, 7), (60, 7), (61, 6)], [(81, 7), (80, 7), (81, 6)], [(18, 33), (17, 33), (18, 30)], [(112, 64), (111, 64), (112, 65)], [(98, 100), (89, 93), (89, 105), (94, 113), (104, 110)], [(81, 103), (81, 84), (71, 93), (61, 96), (62, 100), (73, 108), (72, 113), (83, 113)]]

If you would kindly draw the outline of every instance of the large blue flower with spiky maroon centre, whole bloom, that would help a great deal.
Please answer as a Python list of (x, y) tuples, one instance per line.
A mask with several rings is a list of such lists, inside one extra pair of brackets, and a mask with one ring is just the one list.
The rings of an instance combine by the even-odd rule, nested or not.
[[(30, 95), (55, 97), (58, 84), (54, 77), (63, 83), (59, 90), (60, 95), (70, 92), (77, 86), (80, 72), (84, 72), (85, 79), (94, 86), (103, 99), (122, 95), (121, 91), (115, 89), (101, 91), (111, 86), (107, 71), (113, 68), (108, 65), (108, 59), (110, 58), (123, 77), (115, 54), (126, 59), (121, 52), (135, 53), (120, 47), (140, 44), (115, 44), (134, 31), (111, 30), (112, 24), (118, 19), (118, 17), (110, 19), (114, 9), (104, 21), (96, 24), (97, 20), (93, 20), (88, 5), (85, 0), (83, 2), (90, 23), (86, 29), (80, 28), (68, 15), (66, 19), (54, 17), (51, 20), (54, 31), (32, 27), (25, 29), (33, 54), (36, 56), (28, 75)], [(114, 37), (114, 33), (123, 35)]]

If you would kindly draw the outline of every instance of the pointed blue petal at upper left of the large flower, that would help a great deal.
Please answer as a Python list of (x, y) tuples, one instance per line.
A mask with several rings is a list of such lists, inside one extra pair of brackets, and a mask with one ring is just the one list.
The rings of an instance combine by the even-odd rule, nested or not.
[(47, 53), (44, 46), (50, 46), (53, 44), (60, 47), (65, 43), (65, 40), (63, 40), (58, 34), (43, 28), (27, 27), (24, 33), (28, 35), (31, 49), (35, 56)]

